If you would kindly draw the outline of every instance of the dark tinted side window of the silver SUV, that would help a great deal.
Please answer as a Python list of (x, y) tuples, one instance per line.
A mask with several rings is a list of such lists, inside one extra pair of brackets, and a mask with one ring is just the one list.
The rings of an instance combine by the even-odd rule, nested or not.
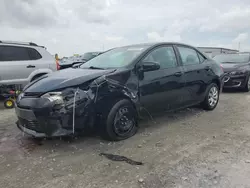
[(42, 58), (32, 48), (17, 46), (0, 46), (0, 61), (28, 61)]

